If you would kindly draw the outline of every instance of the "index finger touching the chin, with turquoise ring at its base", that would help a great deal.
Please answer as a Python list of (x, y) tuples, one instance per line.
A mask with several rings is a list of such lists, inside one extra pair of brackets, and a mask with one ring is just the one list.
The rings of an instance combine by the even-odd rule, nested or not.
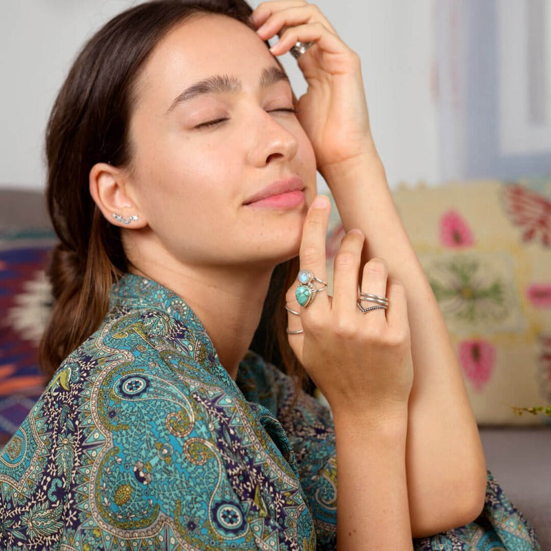
[[(329, 211), (331, 206), (329, 205), (329, 199), (323, 195), (318, 195), (312, 202), (308, 213), (306, 214), (306, 220), (304, 220), (304, 228), (302, 229), (302, 240), (300, 242), (300, 269), (307, 270), (322, 281), (326, 281), (326, 265), (325, 265), (325, 236), (327, 232), (327, 225), (329, 224)], [(322, 284), (320, 282), (313, 282), (316, 289), (320, 289)], [(329, 302), (327, 298), (327, 292), (321, 291), (315, 293), (311, 304), (306, 308), (300, 308), (304, 322), (304, 313), (308, 311), (320, 312), (323, 311), (323, 307), (329, 309)]]

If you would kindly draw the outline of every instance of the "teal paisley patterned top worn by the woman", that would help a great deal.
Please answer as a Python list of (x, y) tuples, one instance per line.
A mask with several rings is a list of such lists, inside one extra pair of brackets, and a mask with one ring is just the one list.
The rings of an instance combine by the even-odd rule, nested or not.
[[(0, 456), (1, 550), (331, 550), (331, 415), (177, 295), (125, 275)], [(477, 523), (419, 550), (539, 549), (491, 477)]]

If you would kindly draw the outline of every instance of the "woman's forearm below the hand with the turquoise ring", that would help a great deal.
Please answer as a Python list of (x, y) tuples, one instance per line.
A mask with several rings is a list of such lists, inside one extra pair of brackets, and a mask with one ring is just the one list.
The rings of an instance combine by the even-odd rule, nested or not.
[(412, 549), (405, 407), (401, 417), (371, 422), (335, 412), (337, 551)]

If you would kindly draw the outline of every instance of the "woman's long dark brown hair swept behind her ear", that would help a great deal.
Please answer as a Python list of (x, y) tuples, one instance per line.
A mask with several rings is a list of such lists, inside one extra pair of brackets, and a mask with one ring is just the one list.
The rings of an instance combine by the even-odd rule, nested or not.
[[(107, 222), (88, 189), (90, 169), (99, 162), (127, 166), (132, 157), (129, 119), (133, 87), (156, 44), (192, 14), (226, 15), (249, 24), (244, 0), (157, 0), (139, 4), (109, 21), (88, 41), (61, 87), (46, 131), (46, 199), (59, 245), (49, 277), (54, 306), (43, 334), (39, 362), (51, 377), (77, 346), (98, 328), (107, 312), (112, 284), (127, 271), (118, 227)], [(272, 278), (269, 297), (280, 304), (269, 315), (267, 333), (284, 335), (284, 280), (287, 266)], [(273, 308), (273, 305), (266, 306)], [(285, 335), (286, 336), (286, 335)], [(260, 347), (266, 350), (266, 343)], [(281, 346), (281, 343), (280, 343)], [(291, 371), (284, 339), (281, 357)], [(287, 347), (287, 349), (285, 349)]]

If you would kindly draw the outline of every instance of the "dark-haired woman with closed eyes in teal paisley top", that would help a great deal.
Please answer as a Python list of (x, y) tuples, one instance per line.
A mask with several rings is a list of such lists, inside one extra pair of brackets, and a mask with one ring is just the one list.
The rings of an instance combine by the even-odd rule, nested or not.
[[(309, 83), (298, 101), (289, 50)], [(359, 60), (315, 6), (169, 0), (115, 17), (63, 85), (47, 154), (53, 376), (1, 457), (4, 547), (538, 548), (485, 490)], [(316, 167), (349, 229), (333, 298)], [(264, 302), (269, 332), (286, 306), (333, 421), (247, 353)]]

